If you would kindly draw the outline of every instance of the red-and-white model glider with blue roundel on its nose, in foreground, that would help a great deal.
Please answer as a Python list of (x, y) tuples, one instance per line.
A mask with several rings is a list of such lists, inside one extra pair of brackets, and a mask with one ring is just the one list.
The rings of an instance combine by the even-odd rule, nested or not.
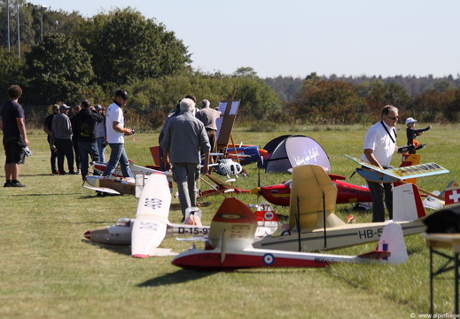
[(402, 229), (396, 223), (386, 225), (375, 251), (358, 256), (256, 249), (252, 245), (256, 227), (257, 221), (245, 204), (237, 198), (226, 198), (211, 222), (205, 250), (191, 249), (180, 253), (172, 263), (182, 268), (214, 271), (261, 267), (317, 268), (338, 262), (397, 264), (408, 259)]

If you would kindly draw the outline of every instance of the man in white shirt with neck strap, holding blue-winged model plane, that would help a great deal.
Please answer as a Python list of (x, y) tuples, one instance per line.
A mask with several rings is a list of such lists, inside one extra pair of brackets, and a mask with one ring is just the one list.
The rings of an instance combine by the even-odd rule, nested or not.
[[(386, 105), (381, 112), (381, 121), (371, 126), (364, 137), (364, 154), (362, 159), (380, 167), (388, 168), (396, 146), (396, 122), (398, 109)], [(385, 222), (385, 206), (390, 220), (393, 219), (393, 183), (374, 183), (367, 181), (372, 197), (372, 222)]]

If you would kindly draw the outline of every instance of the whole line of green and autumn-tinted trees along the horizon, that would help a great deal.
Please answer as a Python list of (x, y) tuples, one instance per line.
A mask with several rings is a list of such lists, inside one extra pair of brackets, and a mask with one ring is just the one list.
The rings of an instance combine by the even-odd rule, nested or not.
[[(20, 49), (15, 24), (10, 23), (10, 36), (0, 26), (0, 95), (6, 99), (6, 88), (19, 84), (27, 121), (38, 127), (52, 104), (79, 105), (88, 98), (106, 106), (120, 88), (131, 96), (127, 121), (146, 129), (159, 128), (189, 93), (216, 106), (230, 99), (234, 88), (234, 98), (241, 100), (238, 121), (248, 123), (369, 123), (387, 104), (419, 121), (460, 120), (458, 76), (383, 79), (313, 73), (304, 79), (261, 79), (250, 66), (233, 74), (209, 74), (191, 68), (191, 54), (174, 32), (129, 7), (83, 18), (78, 12), (19, 3)], [(0, 0), (1, 21), (6, 21), (5, 6)], [(14, 21), (18, 12), (10, 9)]]

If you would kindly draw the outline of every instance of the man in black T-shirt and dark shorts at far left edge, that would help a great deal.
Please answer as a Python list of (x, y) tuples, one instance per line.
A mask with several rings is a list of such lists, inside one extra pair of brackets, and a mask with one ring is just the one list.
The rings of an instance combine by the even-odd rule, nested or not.
[(19, 85), (11, 85), (8, 88), (8, 101), (0, 110), (0, 129), (4, 131), (4, 175), (6, 183), (4, 187), (26, 187), (18, 181), (19, 164), (24, 164), (25, 152), (23, 148), (28, 146), (26, 124), (24, 121), (24, 109), (18, 100), (22, 95)]

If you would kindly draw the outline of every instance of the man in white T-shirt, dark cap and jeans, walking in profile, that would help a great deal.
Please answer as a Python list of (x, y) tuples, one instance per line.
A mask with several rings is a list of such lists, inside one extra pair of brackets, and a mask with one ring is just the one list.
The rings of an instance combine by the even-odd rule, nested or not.
[(105, 129), (111, 152), (103, 176), (112, 175), (115, 167), (117, 167), (120, 162), (123, 177), (134, 177), (129, 168), (128, 156), (124, 148), (124, 136), (134, 134), (130, 128), (124, 128), (125, 119), (122, 107), (126, 106), (128, 98), (128, 92), (124, 89), (119, 89), (115, 92), (113, 104), (107, 107), (107, 113), (105, 114)]

